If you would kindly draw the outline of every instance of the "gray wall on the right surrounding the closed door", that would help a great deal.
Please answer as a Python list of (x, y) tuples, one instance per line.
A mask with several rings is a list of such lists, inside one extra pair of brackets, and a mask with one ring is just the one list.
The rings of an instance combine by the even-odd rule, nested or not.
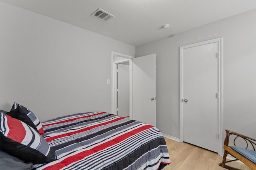
[(156, 127), (162, 133), (180, 136), (179, 47), (218, 37), (223, 37), (223, 137), (225, 129), (256, 137), (256, 10), (136, 47), (136, 57), (156, 53)]

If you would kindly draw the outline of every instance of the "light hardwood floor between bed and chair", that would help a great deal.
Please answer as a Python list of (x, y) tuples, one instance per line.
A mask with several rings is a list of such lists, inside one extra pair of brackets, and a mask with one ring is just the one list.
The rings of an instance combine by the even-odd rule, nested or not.
[[(222, 156), (217, 153), (165, 138), (169, 151), (171, 164), (163, 170), (226, 170), (218, 166), (222, 162)], [(242, 170), (250, 170), (246, 165), (238, 162), (228, 163), (230, 166)]]

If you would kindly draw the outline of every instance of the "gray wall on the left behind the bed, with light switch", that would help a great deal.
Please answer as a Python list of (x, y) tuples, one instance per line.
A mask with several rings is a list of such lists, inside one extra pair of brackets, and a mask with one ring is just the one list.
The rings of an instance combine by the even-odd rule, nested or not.
[(0, 109), (13, 102), (40, 119), (111, 111), (111, 51), (135, 47), (0, 2)]

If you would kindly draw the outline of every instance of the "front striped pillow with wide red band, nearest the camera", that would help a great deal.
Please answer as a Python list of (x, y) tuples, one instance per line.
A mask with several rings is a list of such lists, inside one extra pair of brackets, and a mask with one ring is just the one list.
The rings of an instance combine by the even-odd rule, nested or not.
[(26, 123), (0, 113), (1, 149), (12, 156), (41, 164), (56, 160), (55, 151)]

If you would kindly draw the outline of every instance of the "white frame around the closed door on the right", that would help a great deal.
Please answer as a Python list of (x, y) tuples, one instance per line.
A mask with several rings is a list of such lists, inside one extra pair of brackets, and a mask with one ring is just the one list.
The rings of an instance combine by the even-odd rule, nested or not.
[(211, 39), (180, 47), (180, 142), (183, 142), (183, 50), (210, 43), (218, 43), (218, 154), (222, 155), (222, 45), (223, 38)]

